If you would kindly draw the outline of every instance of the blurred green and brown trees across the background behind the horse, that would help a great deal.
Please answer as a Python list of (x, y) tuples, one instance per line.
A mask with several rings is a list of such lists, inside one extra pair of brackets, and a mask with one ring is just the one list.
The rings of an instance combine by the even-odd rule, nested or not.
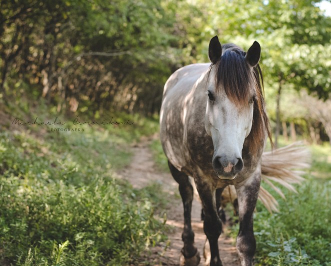
[[(330, 96), (331, 18), (308, 0), (1, 0), (2, 97), (46, 98), (58, 112), (158, 112), (177, 68), (207, 62), (218, 35), (262, 47), (278, 85)], [(273, 88), (273, 89), (272, 89)]]

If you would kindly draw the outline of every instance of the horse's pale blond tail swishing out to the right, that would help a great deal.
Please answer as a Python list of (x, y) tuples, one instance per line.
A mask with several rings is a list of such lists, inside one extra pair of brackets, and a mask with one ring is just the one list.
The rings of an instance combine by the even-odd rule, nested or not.
[[(303, 180), (301, 175), (304, 172), (302, 170), (308, 167), (310, 167), (310, 153), (298, 142), (273, 151), (265, 151), (262, 154), (262, 180), (282, 198), (285, 197), (284, 194), (272, 181), (296, 192), (292, 184), (300, 183)], [(262, 186), (258, 198), (270, 212), (278, 211), (278, 202)]]

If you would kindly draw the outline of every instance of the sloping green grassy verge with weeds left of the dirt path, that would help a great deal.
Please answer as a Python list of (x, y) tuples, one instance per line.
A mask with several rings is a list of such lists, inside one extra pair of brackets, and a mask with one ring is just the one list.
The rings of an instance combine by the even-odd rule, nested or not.
[[(53, 120), (48, 114), (39, 113), (39, 121)], [(130, 143), (157, 129), (137, 115), (116, 116), (127, 119), (134, 124), (2, 124), (1, 265), (129, 264), (165, 237), (155, 187), (136, 190), (113, 178), (130, 161)]]

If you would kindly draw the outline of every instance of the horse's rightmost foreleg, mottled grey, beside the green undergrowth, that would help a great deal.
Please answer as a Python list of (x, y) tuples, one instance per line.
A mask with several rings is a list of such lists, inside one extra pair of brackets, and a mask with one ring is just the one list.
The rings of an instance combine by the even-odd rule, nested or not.
[(253, 211), (256, 205), (260, 180), (260, 173), (255, 173), (244, 184), (236, 187), (239, 207), (239, 232), (236, 238), (236, 248), (241, 266), (252, 265), (255, 253)]

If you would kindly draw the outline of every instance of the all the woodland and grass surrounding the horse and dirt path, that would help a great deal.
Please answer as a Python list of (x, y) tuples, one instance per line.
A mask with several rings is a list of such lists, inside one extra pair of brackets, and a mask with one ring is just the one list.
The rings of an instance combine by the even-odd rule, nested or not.
[[(166, 79), (208, 62), (218, 35), (244, 50), (259, 42), (274, 143), (303, 140), (312, 154), (297, 194), (271, 192), (280, 213), (257, 205), (255, 262), (331, 265), (330, 6), (0, 0), (0, 264), (151, 263), (141, 254), (166, 243), (169, 196), (157, 183), (135, 189), (115, 173), (130, 164), (132, 145), (157, 135)], [(33, 124), (55, 117), (128, 124)], [(150, 149), (164, 171), (159, 141)]]

